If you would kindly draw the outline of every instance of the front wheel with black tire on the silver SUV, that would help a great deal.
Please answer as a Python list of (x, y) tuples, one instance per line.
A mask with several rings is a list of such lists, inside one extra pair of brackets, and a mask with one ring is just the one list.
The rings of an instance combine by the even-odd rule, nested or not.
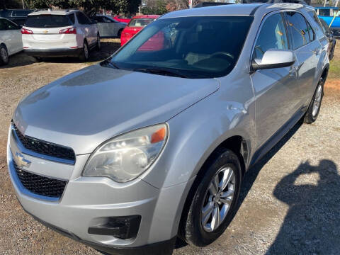
[[(203, 167), (204, 174), (197, 177), (197, 188), (194, 185), (193, 195), (188, 196), (188, 209), (185, 207), (183, 210), (179, 228), (179, 237), (196, 246), (206, 246), (214, 242), (225, 231), (237, 207), (241, 187), (241, 165), (239, 158), (231, 150), (217, 149)], [(222, 176), (227, 177), (228, 173), (233, 173), (233, 176), (225, 186), (224, 193), (217, 193), (214, 198), (212, 180), (217, 177), (221, 187)], [(220, 212), (220, 222), (213, 220), (214, 217), (217, 219), (215, 212)]]

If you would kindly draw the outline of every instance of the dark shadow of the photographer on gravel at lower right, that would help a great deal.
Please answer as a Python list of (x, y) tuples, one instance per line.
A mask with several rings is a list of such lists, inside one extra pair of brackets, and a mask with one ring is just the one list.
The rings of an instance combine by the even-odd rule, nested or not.
[[(317, 174), (317, 183), (305, 183), (307, 174)], [(329, 159), (318, 166), (302, 163), (285, 176), (273, 195), (289, 210), (266, 255), (340, 254), (339, 187), (336, 164)]]

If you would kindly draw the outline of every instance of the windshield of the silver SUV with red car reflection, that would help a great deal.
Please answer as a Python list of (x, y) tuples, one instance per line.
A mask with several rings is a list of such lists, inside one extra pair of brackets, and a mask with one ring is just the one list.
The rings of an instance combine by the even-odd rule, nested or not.
[(251, 16), (159, 19), (103, 64), (194, 79), (222, 77), (234, 68), (252, 21)]

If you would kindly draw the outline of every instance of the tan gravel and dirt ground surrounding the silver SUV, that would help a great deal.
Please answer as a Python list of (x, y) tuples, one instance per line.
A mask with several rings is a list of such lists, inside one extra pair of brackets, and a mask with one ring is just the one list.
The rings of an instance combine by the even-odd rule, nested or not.
[[(105, 40), (91, 62), (118, 47), (117, 40)], [(332, 64), (340, 64), (339, 45)], [(23, 212), (6, 166), (8, 125), (18, 100), (86, 65), (77, 59), (35, 62), (19, 53), (0, 68), (0, 254), (99, 254)], [(204, 248), (178, 242), (174, 254), (340, 254), (338, 69), (331, 68), (317, 122), (296, 125), (246, 174), (225, 233)]]

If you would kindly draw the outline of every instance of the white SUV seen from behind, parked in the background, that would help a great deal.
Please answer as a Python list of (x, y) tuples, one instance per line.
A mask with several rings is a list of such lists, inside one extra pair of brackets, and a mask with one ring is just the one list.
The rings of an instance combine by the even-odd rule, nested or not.
[(21, 29), (23, 50), (33, 57), (80, 57), (89, 59), (89, 50), (100, 49), (96, 21), (78, 10), (35, 11)]

